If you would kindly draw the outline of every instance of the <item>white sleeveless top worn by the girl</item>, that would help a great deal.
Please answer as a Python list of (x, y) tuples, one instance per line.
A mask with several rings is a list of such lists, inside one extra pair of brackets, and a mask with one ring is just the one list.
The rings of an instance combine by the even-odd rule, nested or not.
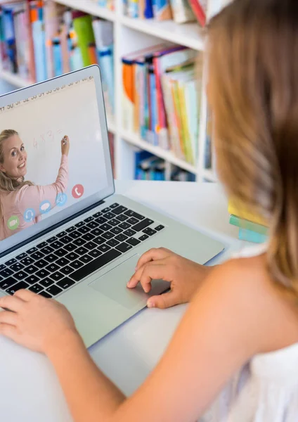
[[(257, 245), (234, 257), (265, 250), (266, 245)], [(298, 422), (298, 343), (255, 355), (198, 422)]]

